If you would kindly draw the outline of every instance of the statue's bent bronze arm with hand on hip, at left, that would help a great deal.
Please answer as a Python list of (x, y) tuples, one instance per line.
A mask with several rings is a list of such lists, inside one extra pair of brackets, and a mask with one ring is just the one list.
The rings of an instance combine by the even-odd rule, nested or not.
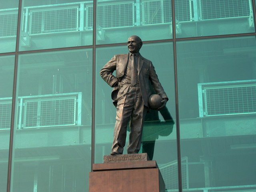
[(100, 70), (100, 76), (106, 81), (111, 87), (116, 86), (118, 79), (113, 75), (113, 72), (116, 70), (116, 55), (104, 65)]

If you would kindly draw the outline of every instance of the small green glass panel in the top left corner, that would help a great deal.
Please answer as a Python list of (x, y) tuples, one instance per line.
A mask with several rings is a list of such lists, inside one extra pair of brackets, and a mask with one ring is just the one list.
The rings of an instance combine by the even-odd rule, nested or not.
[(18, 0), (0, 0), (0, 53), (15, 51)]

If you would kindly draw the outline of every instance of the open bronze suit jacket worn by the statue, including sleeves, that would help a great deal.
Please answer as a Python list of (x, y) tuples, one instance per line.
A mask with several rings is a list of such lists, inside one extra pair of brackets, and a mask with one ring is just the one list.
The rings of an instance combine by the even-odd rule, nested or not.
[[(106, 81), (111, 87), (114, 87), (112, 90), (112, 100), (114, 105), (117, 105), (117, 93), (119, 91), (117, 82), (121, 82), (122, 77), (126, 71), (128, 63), (129, 54), (114, 55), (106, 65), (100, 70), (100, 76)], [(116, 76), (113, 75), (113, 72), (116, 71)], [(167, 98), (166, 93), (162, 85), (158, 80), (156, 71), (152, 62), (148, 59), (145, 59), (141, 55), (139, 56), (138, 62), (138, 71), (139, 71), (139, 83), (140, 83), (140, 92), (142, 94), (142, 100), (146, 107), (148, 106), (148, 98), (152, 94), (150, 90), (150, 82), (156, 91), (162, 98)]]

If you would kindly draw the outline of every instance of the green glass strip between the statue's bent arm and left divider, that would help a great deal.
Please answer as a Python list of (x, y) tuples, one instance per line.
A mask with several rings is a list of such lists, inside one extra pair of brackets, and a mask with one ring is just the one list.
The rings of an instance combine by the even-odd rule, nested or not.
[(111, 99), (112, 88), (101, 78), (100, 70), (115, 54), (123, 53), (128, 53), (126, 46), (96, 49), (95, 163), (103, 163), (103, 155), (110, 154), (116, 122), (116, 108)]

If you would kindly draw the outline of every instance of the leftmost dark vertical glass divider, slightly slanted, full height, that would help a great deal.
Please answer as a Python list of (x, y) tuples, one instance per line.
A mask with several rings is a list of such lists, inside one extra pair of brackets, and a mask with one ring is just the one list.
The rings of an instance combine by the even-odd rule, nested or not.
[(16, 92), (17, 92), (17, 76), (18, 76), (18, 49), (20, 42), (20, 18), (22, 12), (22, 0), (19, 0), (18, 5), (18, 24), (16, 33), (16, 47), (15, 47), (15, 59), (14, 59), (14, 75), (13, 75), (13, 87), (12, 87), (12, 110), (11, 110), (11, 123), (10, 123), (10, 141), (9, 141), (9, 154), (8, 154), (8, 172), (7, 172), (7, 186), (6, 192), (12, 191), (12, 172), (13, 172), (13, 157), (14, 157), (14, 131), (15, 126), (15, 110), (16, 110)]

